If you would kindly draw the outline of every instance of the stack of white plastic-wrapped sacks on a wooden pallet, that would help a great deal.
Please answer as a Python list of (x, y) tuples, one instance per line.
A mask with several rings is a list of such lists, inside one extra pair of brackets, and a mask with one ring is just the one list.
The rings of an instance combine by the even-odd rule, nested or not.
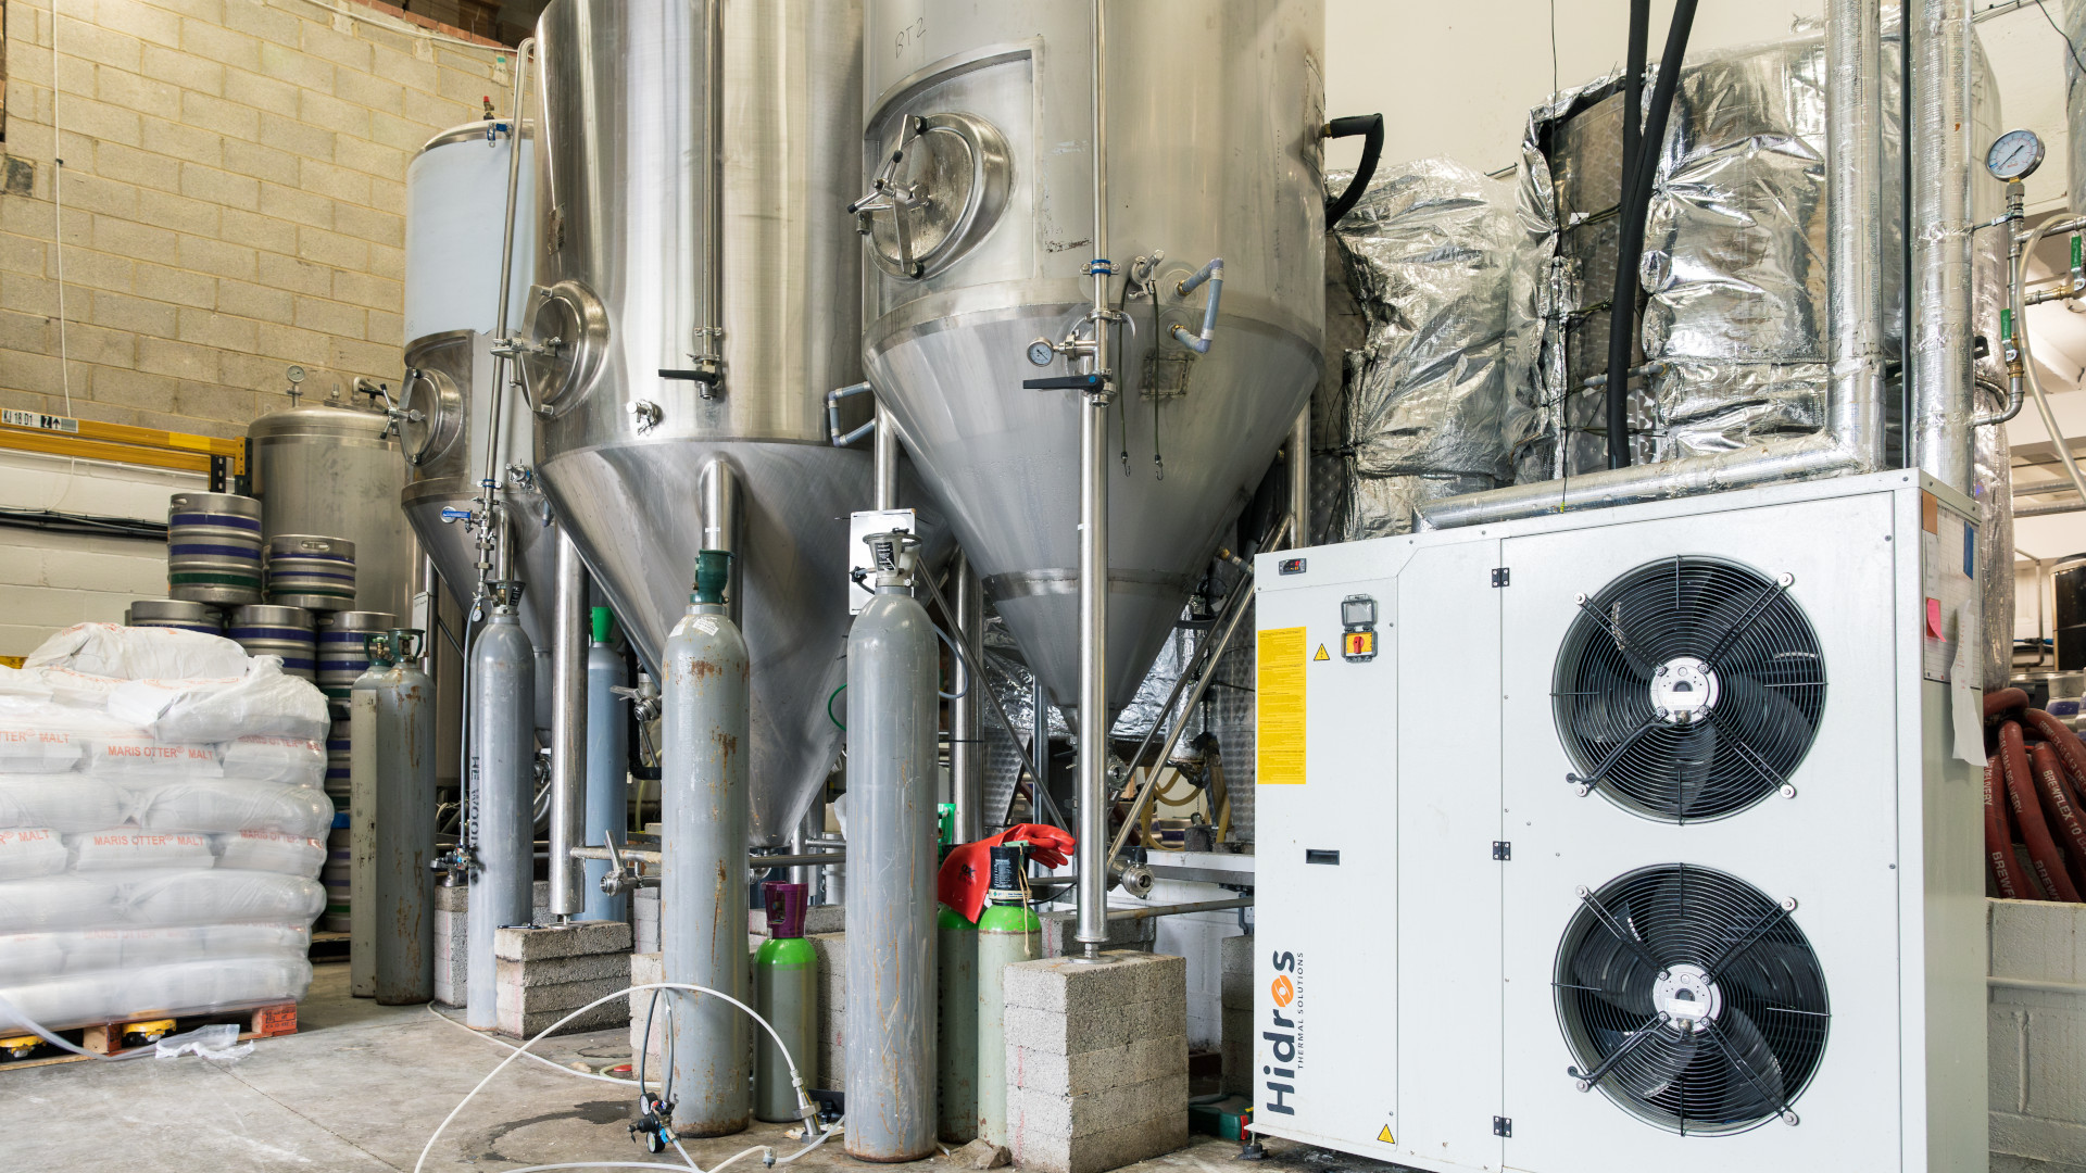
[(81, 624), (0, 668), (0, 1027), (302, 998), (325, 726), (200, 632)]

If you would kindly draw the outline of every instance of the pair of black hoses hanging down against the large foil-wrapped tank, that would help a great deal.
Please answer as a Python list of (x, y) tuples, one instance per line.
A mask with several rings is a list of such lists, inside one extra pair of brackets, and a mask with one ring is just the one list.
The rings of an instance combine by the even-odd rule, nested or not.
[(1635, 150), (1631, 150), (1631, 129), (1644, 92), (1644, 35), (1648, 35), (1648, 29), (1642, 29), (1638, 21), (1650, 23), (1650, 0), (1631, 0), (1629, 6), (1633, 61), (1623, 90), (1625, 102), (1629, 102), (1623, 113), (1623, 205), (1615, 240), (1615, 301), (1608, 305), (1608, 468), (1629, 465), (1629, 361), (1635, 357), (1633, 342), (1638, 338), (1638, 265), (1644, 261), (1644, 217), (1652, 207), (1658, 152), (1667, 142), (1667, 115), (1673, 111), (1673, 92), (1679, 88), (1681, 58), (1688, 56), (1694, 10), (1696, 0), (1679, 0), (1673, 6), (1667, 52), (1658, 58), (1658, 81), (1652, 83), (1652, 109), (1646, 111), (1644, 129), (1635, 136)]

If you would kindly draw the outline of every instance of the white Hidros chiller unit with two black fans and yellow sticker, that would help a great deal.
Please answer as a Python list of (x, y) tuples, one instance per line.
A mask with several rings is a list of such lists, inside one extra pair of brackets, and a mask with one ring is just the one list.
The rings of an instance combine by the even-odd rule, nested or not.
[(1254, 1129), (1984, 1171), (1969, 518), (1888, 472), (1260, 555)]

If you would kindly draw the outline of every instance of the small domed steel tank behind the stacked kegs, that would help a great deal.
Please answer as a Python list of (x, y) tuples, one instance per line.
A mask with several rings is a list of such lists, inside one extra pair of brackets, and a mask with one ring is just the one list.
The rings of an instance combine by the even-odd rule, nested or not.
[(355, 603), (403, 616), (419, 559), (398, 511), (405, 461), (382, 411), (290, 407), (246, 426), (261, 532), (355, 543)]

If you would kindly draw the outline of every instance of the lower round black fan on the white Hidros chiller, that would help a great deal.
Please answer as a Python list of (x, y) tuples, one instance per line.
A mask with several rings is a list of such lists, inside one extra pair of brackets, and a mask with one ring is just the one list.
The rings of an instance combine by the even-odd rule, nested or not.
[(1579, 900), (1554, 979), (1579, 1090), (1681, 1135), (1794, 1125), (1832, 1021), (1796, 902), (1690, 864)]

